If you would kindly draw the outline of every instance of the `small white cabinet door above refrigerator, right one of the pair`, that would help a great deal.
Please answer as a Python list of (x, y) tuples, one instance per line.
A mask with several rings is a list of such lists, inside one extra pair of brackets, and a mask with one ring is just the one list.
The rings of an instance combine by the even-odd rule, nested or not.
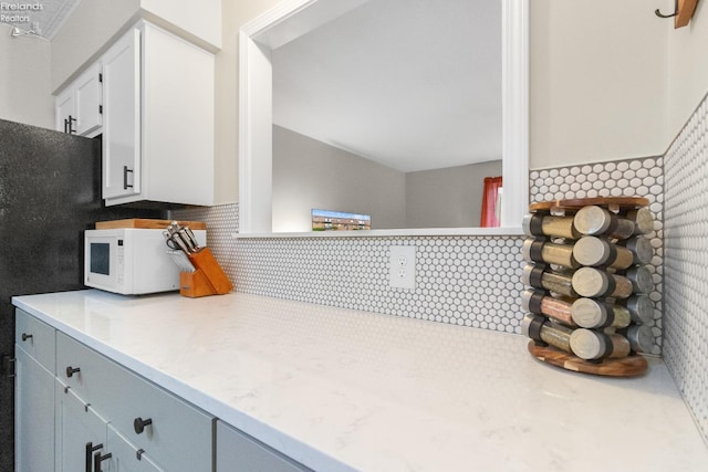
[(101, 63), (92, 65), (74, 82), (75, 129), (81, 136), (91, 136), (103, 123)]

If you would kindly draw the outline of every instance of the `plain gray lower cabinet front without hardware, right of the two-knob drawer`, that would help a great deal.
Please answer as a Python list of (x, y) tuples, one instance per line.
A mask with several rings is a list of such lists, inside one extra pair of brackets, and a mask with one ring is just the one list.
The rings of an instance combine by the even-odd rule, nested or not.
[(230, 424), (217, 421), (218, 472), (302, 472), (309, 470)]

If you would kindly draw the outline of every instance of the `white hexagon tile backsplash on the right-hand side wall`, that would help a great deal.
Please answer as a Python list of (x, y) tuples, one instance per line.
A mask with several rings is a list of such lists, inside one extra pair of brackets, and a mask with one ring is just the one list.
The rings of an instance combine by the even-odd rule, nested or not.
[(663, 355), (708, 442), (708, 102), (665, 156)]

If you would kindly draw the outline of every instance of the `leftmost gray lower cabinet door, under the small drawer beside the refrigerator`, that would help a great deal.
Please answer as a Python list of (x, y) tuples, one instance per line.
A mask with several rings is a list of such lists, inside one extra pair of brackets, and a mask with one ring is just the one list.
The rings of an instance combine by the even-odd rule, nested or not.
[(54, 470), (54, 375), (15, 347), (15, 471)]

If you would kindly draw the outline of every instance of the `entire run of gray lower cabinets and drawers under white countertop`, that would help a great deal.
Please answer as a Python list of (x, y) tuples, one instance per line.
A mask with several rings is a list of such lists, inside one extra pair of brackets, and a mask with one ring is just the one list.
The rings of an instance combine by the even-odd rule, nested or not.
[(17, 472), (310, 471), (23, 311), (15, 313)]

